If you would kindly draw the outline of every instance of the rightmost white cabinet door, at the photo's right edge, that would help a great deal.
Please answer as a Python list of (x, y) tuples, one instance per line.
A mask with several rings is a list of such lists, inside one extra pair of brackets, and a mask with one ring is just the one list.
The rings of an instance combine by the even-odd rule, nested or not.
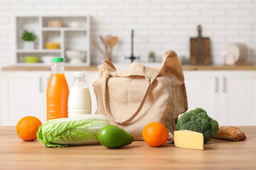
[(222, 79), (225, 124), (256, 125), (256, 72), (225, 72)]

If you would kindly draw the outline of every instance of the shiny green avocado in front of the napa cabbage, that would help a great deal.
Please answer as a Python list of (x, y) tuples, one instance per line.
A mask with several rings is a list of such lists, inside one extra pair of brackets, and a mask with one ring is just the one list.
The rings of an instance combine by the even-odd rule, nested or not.
[(100, 143), (110, 149), (130, 145), (134, 137), (115, 125), (106, 125), (97, 134)]

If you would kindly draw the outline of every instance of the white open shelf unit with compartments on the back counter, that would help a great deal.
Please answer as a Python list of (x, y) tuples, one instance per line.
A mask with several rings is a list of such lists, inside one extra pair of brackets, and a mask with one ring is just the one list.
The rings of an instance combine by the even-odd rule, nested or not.
[[(50, 21), (63, 21), (61, 28), (52, 28)], [(22, 34), (24, 30), (36, 34), (35, 48), (24, 49)], [(60, 43), (60, 49), (46, 49), (46, 42)], [(86, 52), (82, 63), (68, 63), (70, 60), (65, 55), (67, 50)], [(25, 63), (23, 57), (37, 56), (38, 63)], [(16, 64), (42, 65), (43, 56), (50, 55), (63, 57), (66, 64), (89, 66), (90, 65), (90, 16), (16, 16)]]

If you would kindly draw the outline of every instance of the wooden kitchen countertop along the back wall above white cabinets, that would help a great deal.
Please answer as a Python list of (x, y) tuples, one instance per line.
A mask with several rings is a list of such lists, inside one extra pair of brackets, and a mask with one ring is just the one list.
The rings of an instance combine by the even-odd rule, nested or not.
[[(160, 64), (159, 64), (160, 65)], [(50, 71), (50, 66), (8, 66), (2, 67), (2, 71)], [(89, 67), (85, 66), (65, 66), (65, 70), (80, 70), (80, 71), (98, 71), (97, 65)], [(238, 66), (224, 66), (224, 65), (183, 65), (183, 70), (256, 70), (256, 65), (238, 65)]]

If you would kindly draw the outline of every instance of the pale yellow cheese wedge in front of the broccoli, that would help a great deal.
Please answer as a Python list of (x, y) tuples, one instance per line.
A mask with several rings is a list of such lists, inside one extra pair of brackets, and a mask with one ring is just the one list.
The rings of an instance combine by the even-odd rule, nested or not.
[(203, 134), (191, 130), (174, 131), (174, 145), (188, 149), (203, 150)]

